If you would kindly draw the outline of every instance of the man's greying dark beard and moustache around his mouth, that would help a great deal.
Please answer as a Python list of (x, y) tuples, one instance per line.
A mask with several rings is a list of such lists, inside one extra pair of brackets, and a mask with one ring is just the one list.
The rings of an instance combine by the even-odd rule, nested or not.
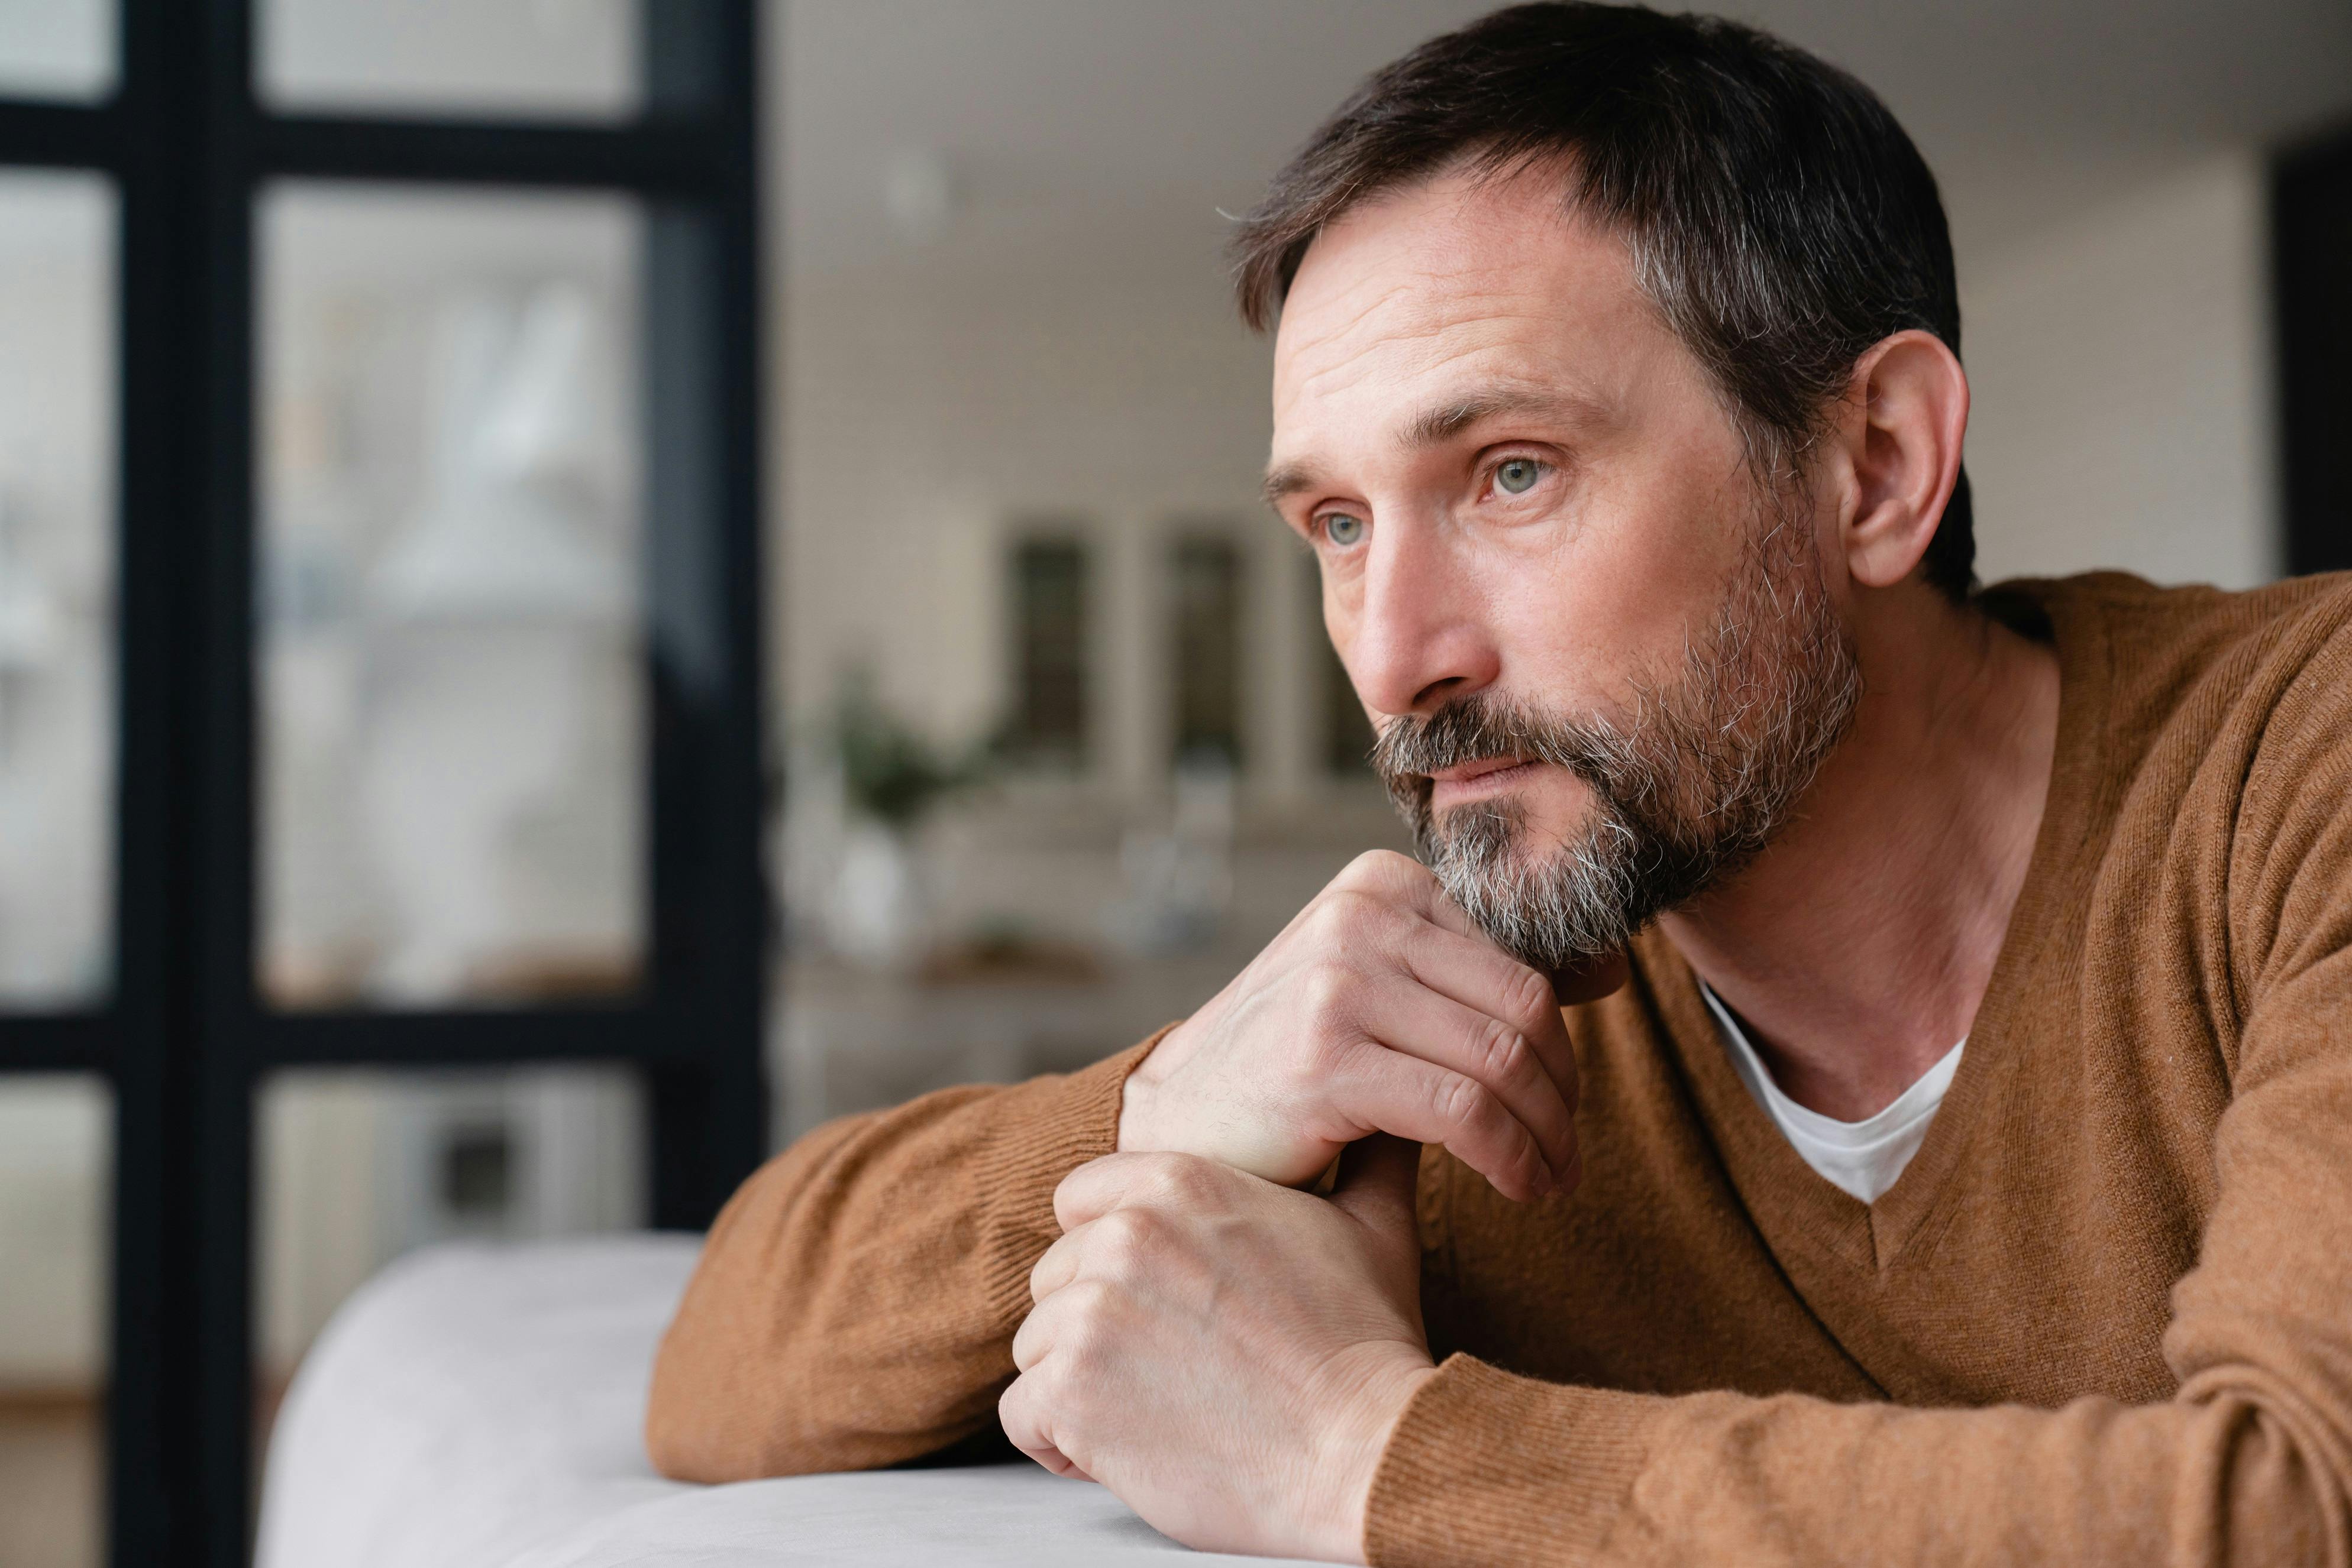
[[(1795, 536), (1780, 548), (1783, 534)], [(1494, 693), (1388, 722), (1371, 764), (1446, 896), (1522, 964), (1618, 952), (1738, 872), (1795, 816), (1863, 693), (1804, 529), (1764, 522), (1708, 637), (1621, 715), (1569, 719)], [(1585, 825), (1536, 853), (1512, 797), (1430, 811), (1430, 773), (1482, 757), (1569, 769)]]

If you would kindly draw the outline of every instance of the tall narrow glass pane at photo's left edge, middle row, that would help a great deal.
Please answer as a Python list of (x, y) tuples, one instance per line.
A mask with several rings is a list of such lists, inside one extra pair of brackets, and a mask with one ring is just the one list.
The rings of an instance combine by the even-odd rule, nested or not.
[(0, 174), (0, 1009), (113, 966), (113, 190)]

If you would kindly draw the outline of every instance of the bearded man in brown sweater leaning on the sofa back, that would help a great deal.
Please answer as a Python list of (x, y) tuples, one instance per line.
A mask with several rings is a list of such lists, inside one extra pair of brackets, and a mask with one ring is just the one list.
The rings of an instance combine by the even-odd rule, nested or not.
[(1489, 16), (1237, 244), (1430, 870), (786, 1152), (661, 1467), (1002, 1422), (1218, 1549), (2352, 1561), (2352, 585), (1973, 592), (1933, 181), (1745, 28)]

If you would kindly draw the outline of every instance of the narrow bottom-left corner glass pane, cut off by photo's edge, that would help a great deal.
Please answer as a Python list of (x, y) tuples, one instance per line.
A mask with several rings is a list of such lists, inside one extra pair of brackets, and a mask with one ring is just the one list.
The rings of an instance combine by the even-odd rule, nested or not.
[(0, 1563), (96, 1568), (106, 1497), (113, 1110), (0, 1077)]

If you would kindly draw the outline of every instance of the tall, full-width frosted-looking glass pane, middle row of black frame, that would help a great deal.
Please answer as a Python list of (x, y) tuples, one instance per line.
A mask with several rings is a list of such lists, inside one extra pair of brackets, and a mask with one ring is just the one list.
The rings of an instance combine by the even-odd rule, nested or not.
[(640, 978), (640, 230), (621, 197), (266, 200), (259, 985), (280, 1006)]

